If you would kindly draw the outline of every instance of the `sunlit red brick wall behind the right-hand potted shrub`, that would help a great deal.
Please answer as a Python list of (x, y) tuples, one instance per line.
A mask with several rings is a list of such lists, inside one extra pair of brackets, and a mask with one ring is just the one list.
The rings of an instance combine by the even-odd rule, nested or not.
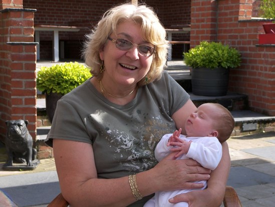
[(252, 111), (275, 116), (275, 47), (258, 45), (264, 22), (251, 20), (252, 3), (252, 0), (193, 0), (191, 46), (207, 40), (237, 48), (242, 62), (239, 68), (230, 70), (229, 91), (248, 95)]

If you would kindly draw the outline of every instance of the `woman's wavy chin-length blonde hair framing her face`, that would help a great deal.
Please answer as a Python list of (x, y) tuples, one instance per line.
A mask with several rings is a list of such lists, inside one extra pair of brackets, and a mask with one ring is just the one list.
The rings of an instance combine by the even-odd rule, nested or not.
[[(108, 10), (98, 22), (91, 34), (87, 35), (84, 45), (83, 57), (91, 73), (101, 79), (100, 51), (107, 42), (108, 36), (116, 30), (118, 25), (125, 21), (133, 21), (141, 25), (144, 40), (155, 45), (156, 53), (152, 60), (147, 77), (141, 79), (139, 86), (157, 80), (166, 66), (168, 41), (166, 31), (160, 23), (157, 15), (152, 8), (145, 5), (135, 6), (123, 4)], [(145, 80), (146, 79), (146, 80)]]

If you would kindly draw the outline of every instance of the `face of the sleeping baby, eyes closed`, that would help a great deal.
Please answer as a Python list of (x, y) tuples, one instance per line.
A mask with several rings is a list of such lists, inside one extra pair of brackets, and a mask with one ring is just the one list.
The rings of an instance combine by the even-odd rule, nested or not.
[(188, 137), (208, 137), (213, 132), (213, 123), (218, 122), (218, 110), (212, 104), (203, 104), (185, 122)]

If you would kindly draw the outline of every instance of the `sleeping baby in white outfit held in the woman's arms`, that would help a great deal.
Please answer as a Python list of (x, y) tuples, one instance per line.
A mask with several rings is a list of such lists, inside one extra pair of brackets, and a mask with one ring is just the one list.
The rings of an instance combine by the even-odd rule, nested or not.
[[(178, 151), (176, 159), (191, 158), (203, 167), (214, 170), (222, 156), (221, 143), (225, 142), (234, 129), (234, 119), (231, 113), (219, 104), (207, 103), (198, 107), (185, 123), (186, 135), (181, 135), (181, 129), (173, 134), (164, 135), (155, 149), (158, 161), (166, 157), (170, 151)], [(207, 186), (206, 180), (200, 181)], [(187, 202), (170, 203), (169, 199), (177, 194), (186, 193), (194, 189), (156, 192), (144, 207), (151, 206), (184, 206)], [(196, 189), (198, 190), (198, 189)]]

